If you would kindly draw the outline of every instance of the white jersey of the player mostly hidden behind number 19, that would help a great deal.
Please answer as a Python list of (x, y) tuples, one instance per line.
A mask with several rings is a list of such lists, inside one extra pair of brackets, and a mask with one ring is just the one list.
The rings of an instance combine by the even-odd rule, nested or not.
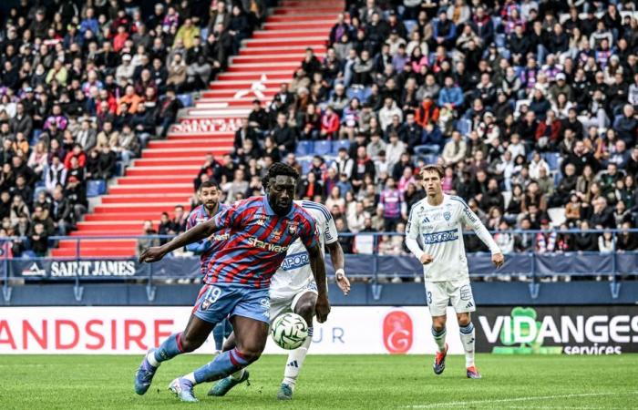
[[(325, 244), (338, 240), (332, 214), (320, 203), (310, 200), (295, 200), (295, 202), (310, 213), (316, 221), (319, 246), (324, 254)], [(308, 251), (306, 251), (302, 241), (294, 241), (288, 248), (282, 266), (273, 275), (270, 288), (271, 297), (294, 295), (312, 282), (314, 282), (314, 276), (310, 269)]]

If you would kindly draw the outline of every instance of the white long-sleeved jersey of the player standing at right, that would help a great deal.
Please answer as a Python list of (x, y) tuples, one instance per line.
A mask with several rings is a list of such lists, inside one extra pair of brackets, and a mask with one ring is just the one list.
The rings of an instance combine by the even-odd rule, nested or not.
[(433, 260), (423, 265), (426, 282), (468, 279), (468, 259), (463, 242), (465, 225), (477, 233), (492, 254), (500, 252), (488, 229), (463, 199), (444, 194), (440, 205), (430, 205), (426, 197), (412, 206), (406, 227), (406, 245), (419, 260), (424, 253), (432, 256)]

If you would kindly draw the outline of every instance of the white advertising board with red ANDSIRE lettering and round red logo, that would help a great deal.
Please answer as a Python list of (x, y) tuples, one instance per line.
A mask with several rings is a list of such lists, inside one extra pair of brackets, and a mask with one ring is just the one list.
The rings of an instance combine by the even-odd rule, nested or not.
[[(3, 307), (0, 354), (143, 354), (181, 332), (191, 308)], [(454, 313), (448, 312), (450, 317)], [(455, 321), (448, 325), (450, 354), (461, 354)], [(311, 354), (433, 354), (426, 307), (334, 307), (314, 323)], [(214, 352), (212, 336), (197, 351)], [(269, 338), (266, 354), (285, 354)]]

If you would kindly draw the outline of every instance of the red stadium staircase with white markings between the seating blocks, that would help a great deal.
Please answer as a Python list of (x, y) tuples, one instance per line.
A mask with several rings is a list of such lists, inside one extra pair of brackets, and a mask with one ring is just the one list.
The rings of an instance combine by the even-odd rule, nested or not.
[[(157, 226), (161, 212), (169, 212), (172, 218), (176, 205), (188, 211), (193, 179), (204, 156), (212, 153), (219, 157), (232, 150), (234, 131), (257, 97), (253, 90), (259, 89), (262, 99), (270, 101), (280, 85), (293, 77), (306, 47), (323, 56), (330, 29), (343, 6), (343, 1), (336, 0), (280, 2), (262, 29), (244, 40), (228, 70), (201, 93), (195, 107), (187, 108), (178, 118), (168, 138), (149, 142), (141, 158), (108, 189), (101, 204), (78, 222), (71, 236), (141, 235), (144, 220)], [(135, 255), (135, 245), (135, 240), (83, 240), (79, 256), (129, 257)], [(76, 257), (77, 241), (60, 241), (51, 254)]]

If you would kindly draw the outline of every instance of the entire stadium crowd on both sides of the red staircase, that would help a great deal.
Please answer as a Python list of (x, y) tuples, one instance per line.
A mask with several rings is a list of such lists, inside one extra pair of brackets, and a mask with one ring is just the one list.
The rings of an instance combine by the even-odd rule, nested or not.
[[(205, 87), (267, 2), (33, 2), (0, 29), (0, 235), (46, 253), (87, 210), (87, 185), (162, 138), (180, 93)], [(635, 250), (638, 19), (631, 1), (347, 1), (272, 103), (254, 102), (234, 151), (209, 156), (231, 202), (262, 190), (274, 161), (297, 167), (299, 198), (323, 202), (345, 251), (406, 252), (418, 169), (468, 201), (504, 251)], [(318, 155), (314, 155), (317, 153)], [(196, 202), (193, 199), (193, 204)], [(177, 233), (186, 218), (162, 216)], [(512, 230), (542, 229), (538, 234)], [(468, 237), (468, 250), (482, 244)]]

